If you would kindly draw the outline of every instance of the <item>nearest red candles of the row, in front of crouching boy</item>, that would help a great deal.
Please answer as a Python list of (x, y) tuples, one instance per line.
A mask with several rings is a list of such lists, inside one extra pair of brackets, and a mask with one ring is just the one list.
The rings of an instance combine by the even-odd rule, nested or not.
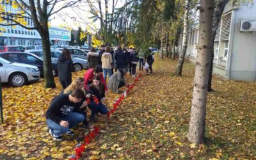
[(90, 141), (99, 134), (99, 127), (94, 126), (93, 131), (90, 131), (86, 136), (84, 136), (84, 143), (77, 143), (76, 145), (76, 154), (72, 154), (70, 156), (70, 160), (77, 160), (82, 157), (82, 153), (84, 152), (84, 149), (86, 148), (86, 145), (90, 143)]

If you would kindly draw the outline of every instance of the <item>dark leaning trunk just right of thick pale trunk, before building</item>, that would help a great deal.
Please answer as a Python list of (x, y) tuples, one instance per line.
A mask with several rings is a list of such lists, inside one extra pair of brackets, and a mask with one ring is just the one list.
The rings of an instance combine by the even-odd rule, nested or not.
[(214, 39), (217, 33), (218, 25), (221, 20), (221, 15), (223, 10), (228, 3), (229, 0), (219, 1), (216, 4), (216, 8), (214, 10), (214, 17), (213, 17), (213, 26), (212, 26), (212, 39), (211, 39), (211, 63), (210, 63), (210, 71), (209, 71), (209, 80), (208, 80), (208, 92), (212, 92), (212, 69), (213, 69), (213, 60), (214, 60)]

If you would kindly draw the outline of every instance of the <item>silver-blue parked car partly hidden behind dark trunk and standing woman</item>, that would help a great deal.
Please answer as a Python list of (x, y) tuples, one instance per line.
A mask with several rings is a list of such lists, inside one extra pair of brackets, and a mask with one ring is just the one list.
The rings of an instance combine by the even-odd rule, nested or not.
[[(28, 50), (26, 52), (31, 52), (33, 54), (35, 54), (36, 56), (43, 58), (43, 51), (42, 49), (37, 49), (37, 50)], [(51, 59), (52, 62), (57, 63), (58, 62), (58, 58), (61, 55), (61, 51), (57, 51), (54, 49), (51, 49)], [(89, 63), (87, 60), (83, 60), (81, 58), (72, 58), (72, 61), (74, 63), (74, 68), (75, 71), (79, 71), (79, 70), (83, 70), (83, 69), (88, 69), (89, 68)]]

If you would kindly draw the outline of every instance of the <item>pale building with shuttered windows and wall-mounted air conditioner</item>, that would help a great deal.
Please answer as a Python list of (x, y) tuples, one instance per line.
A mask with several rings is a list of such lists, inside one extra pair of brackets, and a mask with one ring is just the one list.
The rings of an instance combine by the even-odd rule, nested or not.
[[(254, 0), (256, 3), (256, 0)], [(250, 22), (247, 31), (243, 22)], [(248, 24), (246, 24), (248, 27)], [(214, 39), (213, 72), (227, 79), (256, 80), (256, 6), (239, 4), (225, 6)], [(186, 55), (189, 60), (196, 59), (198, 43), (198, 25), (189, 30)]]

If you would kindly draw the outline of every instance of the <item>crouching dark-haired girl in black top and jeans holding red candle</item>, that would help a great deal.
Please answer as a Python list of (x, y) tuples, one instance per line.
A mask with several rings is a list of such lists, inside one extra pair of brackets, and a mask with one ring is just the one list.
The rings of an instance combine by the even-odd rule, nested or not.
[(92, 99), (88, 108), (92, 109), (92, 115), (90, 116), (90, 121), (97, 122), (95, 118), (96, 113), (101, 113), (106, 115), (108, 113), (108, 108), (102, 103), (106, 100), (105, 98), (105, 86), (100, 81), (100, 76), (93, 77), (93, 83), (90, 84), (89, 92), (92, 93)]

